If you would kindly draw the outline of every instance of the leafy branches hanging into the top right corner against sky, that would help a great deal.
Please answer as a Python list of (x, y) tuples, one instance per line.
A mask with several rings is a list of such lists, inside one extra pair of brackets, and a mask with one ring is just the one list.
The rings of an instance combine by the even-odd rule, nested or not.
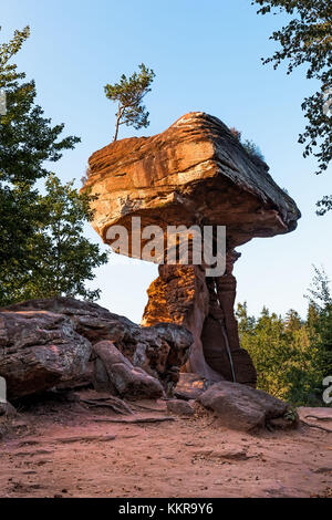
[(299, 143), (305, 144), (304, 157), (313, 154), (318, 158), (318, 173), (321, 173), (328, 168), (332, 157), (331, 114), (324, 110), (332, 102), (331, 0), (253, 0), (251, 3), (260, 6), (260, 14), (276, 9), (291, 18), (287, 25), (270, 37), (281, 49), (263, 63), (272, 62), (277, 69), (287, 60), (288, 74), (300, 65), (308, 65), (307, 77), (315, 79), (320, 84), (319, 91), (302, 103), (308, 122)]

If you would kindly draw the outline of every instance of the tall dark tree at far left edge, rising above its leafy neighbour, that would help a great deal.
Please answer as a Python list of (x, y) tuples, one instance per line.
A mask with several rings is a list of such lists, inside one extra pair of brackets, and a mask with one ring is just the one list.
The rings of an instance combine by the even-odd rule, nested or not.
[(61, 152), (79, 141), (58, 141), (63, 125), (52, 127), (50, 119), (42, 117), (41, 107), (34, 104), (34, 83), (23, 83), (25, 74), (10, 63), (29, 35), (27, 27), (0, 45), (0, 87), (7, 95), (7, 114), (0, 116), (0, 271), (28, 268), (27, 240), (41, 217), (33, 185), (48, 175), (44, 160), (59, 160)]

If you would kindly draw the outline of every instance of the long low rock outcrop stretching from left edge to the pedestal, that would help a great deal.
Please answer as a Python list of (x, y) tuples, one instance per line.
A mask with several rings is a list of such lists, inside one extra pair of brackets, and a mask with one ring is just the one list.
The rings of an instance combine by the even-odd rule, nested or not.
[(22, 302), (0, 309), (0, 376), (8, 398), (84, 376), (92, 345), (103, 340), (166, 389), (176, 385), (193, 343), (181, 326), (139, 327), (95, 303), (71, 298)]

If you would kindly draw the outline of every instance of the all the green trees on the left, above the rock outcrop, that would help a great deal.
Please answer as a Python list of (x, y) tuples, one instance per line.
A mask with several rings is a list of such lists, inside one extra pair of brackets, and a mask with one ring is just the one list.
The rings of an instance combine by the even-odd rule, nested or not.
[[(64, 125), (52, 126), (43, 117), (34, 82), (24, 82), (25, 74), (10, 62), (29, 35), (27, 27), (0, 45), (0, 87), (7, 95), (7, 114), (0, 116), (0, 305), (55, 293), (96, 298), (97, 291), (84, 289), (84, 280), (92, 278), (93, 266), (105, 261), (80, 236), (82, 222), (91, 217), (89, 196), (62, 187), (44, 166), (80, 139), (63, 138)], [(45, 197), (35, 187), (38, 179), (46, 179)], [(61, 247), (55, 229), (63, 233)]]

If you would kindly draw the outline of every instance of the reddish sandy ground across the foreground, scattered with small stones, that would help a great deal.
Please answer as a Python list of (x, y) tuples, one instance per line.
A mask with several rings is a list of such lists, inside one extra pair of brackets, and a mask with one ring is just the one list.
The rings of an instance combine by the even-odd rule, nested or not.
[[(332, 435), (322, 429), (243, 434), (204, 412), (107, 422), (167, 417), (163, 401), (136, 405), (129, 416), (52, 402), (21, 412), (0, 441), (0, 497), (332, 496)], [(305, 420), (332, 429), (331, 412)]]

